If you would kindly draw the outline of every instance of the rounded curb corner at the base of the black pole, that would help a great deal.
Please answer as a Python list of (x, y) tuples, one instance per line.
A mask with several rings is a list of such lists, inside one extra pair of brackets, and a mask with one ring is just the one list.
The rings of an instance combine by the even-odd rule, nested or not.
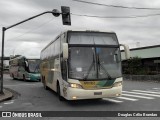
[(0, 102), (3, 102), (5, 100), (9, 100), (13, 97), (12, 92), (9, 90), (3, 89), (3, 94), (0, 94)]

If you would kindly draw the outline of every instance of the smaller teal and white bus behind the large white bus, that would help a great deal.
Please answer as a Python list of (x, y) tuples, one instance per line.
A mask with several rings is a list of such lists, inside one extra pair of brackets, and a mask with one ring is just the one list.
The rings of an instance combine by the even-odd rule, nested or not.
[(25, 56), (16, 56), (9, 60), (9, 73), (13, 79), (24, 81), (40, 81), (39, 59), (27, 59)]

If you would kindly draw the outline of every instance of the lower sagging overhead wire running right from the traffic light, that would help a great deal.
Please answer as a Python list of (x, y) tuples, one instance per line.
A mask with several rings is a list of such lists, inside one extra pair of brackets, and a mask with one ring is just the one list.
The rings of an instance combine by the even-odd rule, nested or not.
[(142, 17), (151, 17), (151, 16), (159, 16), (159, 14), (147, 14), (147, 15), (132, 15), (132, 16), (96, 16), (96, 15), (82, 15), (82, 14), (74, 14), (75, 16), (84, 16), (84, 17), (95, 17), (95, 18), (142, 18)]

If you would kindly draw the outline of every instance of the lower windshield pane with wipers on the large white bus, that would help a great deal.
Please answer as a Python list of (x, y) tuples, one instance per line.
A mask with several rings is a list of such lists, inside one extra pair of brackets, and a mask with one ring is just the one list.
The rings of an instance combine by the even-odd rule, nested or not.
[(70, 47), (69, 78), (97, 80), (120, 77), (119, 48)]

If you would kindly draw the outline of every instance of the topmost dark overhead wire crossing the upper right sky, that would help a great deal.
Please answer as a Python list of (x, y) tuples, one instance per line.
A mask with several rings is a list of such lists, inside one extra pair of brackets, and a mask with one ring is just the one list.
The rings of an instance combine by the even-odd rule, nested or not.
[(101, 4), (101, 3), (95, 3), (95, 2), (87, 2), (87, 1), (83, 1), (83, 0), (72, 0), (72, 1), (81, 2), (81, 3), (87, 3), (87, 4), (93, 4), (93, 5), (106, 6), (106, 7), (115, 7), (115, 8), (141, 9), (141, 10), (160, 10), (160, 8), (127, 7), (127, 6), (121, 6), (121, 5), (107, 5), (107, 4)]

